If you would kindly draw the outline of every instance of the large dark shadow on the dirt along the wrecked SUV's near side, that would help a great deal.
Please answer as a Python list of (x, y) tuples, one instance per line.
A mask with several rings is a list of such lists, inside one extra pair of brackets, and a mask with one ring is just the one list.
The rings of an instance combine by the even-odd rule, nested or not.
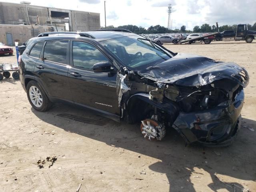
[[(170, 130), (166, 138), (162, 141), (148, 141), (142, 137), (140, 124), (130, 125), (125, 122), (118, 123), (101, 116), (92, 114), (89, 110), (81, 110), (63, 104), (55, 104), (47, 114), (32, 110), (32, 112), (42, 121), (52, 124), (67, 132), (73, 132), (82, 136), (104, 142), (107, 145), (130, 150), (138, 154), (157, 158), (159, 162), (149, 165), (150, 170), (166, 174), (170, 184), (169, 191), (196, 192), (196, 186), (201, 191), (214, 191), (226, 189), (236, 191), (243, 188), (238, 182), (232, 180), (255, 180), (255, 140), (249, 136), (255, 132), (250, 132), (242, 128), (235, 142), (224, 148), (204, 148), (200, 145), (185, 146), (184, 140), (175, 130)], [(73, 114), (83, 116), (95, 121), (104, 122), (103, 126), (86, 126), (82, 122), (73, 122), (72, 126), (66, 123), (66, 118), (57, 116), (58, 114)], [(69, 120), (69, 119), (68, 119)], [(243, 124), (256, 126), (256, 122), (243, 119)], [(74, 126), (75, 124), (75, 126)], [(99, 135), (98, 133), (101, 133)], [(104, 135), (103, 135), (103, 134)], [(114, 137), (114, 138), (113, 138)], [(204, 173), (202, 173), (202, 170)], [(205, 175), (207, 172), (207, 175)], [(204, 186), (200, 183), (200, 178), (210, 175), (210, 184)], [(229, 176), (229, 180), (222, 180), (222, 176)]]

